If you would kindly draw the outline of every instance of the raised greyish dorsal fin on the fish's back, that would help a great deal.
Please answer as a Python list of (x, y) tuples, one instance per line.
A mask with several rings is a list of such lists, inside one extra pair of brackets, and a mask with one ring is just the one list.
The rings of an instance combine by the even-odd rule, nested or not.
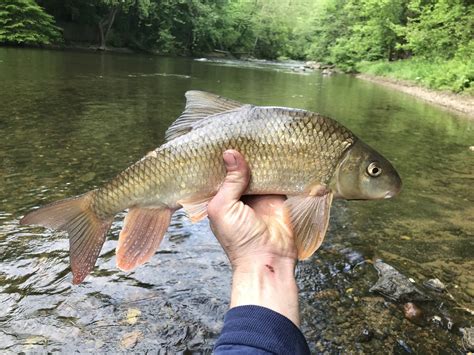
[(191, 90), (184, 96), (186, 107), (181, 116), (167, 129), (165, 133), (167, 142), (190, 132), (194, 124), (204, 118), (244, 106), (240, 102), (205, 91)]

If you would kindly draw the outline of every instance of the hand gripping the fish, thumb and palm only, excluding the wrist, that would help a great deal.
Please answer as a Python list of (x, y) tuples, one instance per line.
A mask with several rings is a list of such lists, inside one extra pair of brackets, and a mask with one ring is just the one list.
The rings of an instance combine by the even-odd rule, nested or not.
[(241, 196), (250, 170), (243, 156), (224, 152), (227, 175), (208, 205), (211, 229), (224, 248), (233, 268), (249, 258), (274, 257), (295, 262), (297, 250), (282, 195)]

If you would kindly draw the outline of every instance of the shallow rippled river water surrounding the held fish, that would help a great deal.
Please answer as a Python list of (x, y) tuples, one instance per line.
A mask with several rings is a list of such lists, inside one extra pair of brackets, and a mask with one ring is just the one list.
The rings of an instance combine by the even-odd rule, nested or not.
[[(100, 186), (163, 143), (200, 89), (328, 115), (393, 162), (403, 191), (336, 201), (323, 247), (301, 262), (302, 331), (313, 352), (463, 353), (474, 326), (473, 121), (346, 75), (292, 65), (0, 48), (0, 351), (209, 352), (230, 269), (207, 220), (178, 212), (150, 262), (115, 266), (117, 216), (91, 276), (71, 284), (64, 233), (20, 226), (29, 210)], [(431, 301), (369, 291), (376, 259)], [(440, 279), (445, 292), (423, 282)]]

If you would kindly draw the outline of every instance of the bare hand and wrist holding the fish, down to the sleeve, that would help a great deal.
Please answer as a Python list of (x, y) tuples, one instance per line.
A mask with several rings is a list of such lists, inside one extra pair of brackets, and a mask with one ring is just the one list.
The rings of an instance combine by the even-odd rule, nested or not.
[(224, 152), (227, 175), (209, 202), (211, 229), (233, 269), (231, 307), (254, 304), (270, 308), (299, 324), (294, 278), (297, 250), (279, 195), (245, 196), (250, 170), (243, 156)]

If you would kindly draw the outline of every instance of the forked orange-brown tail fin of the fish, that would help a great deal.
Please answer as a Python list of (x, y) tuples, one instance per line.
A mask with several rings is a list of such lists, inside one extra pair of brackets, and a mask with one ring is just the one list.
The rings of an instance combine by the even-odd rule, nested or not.
[(68, 232), (74, 284), (81, 283), (94, 268), (113, 220), (113, 217), (101, 220), (94, 214), (90, 208), (93, 194), (94, 191), (91, 191), (53, 202), (20, 220), (20, 224), (35, 224)]

